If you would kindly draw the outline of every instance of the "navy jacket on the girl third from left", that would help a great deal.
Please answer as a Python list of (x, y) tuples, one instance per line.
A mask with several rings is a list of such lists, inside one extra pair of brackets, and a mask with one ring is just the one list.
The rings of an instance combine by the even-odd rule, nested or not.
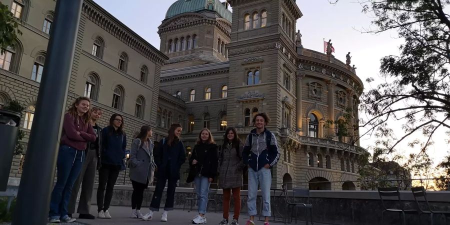
[(125, 157), (126, 135), (117, 133), (112, 126), (101, 130), (101, 163), (122, 165)]

